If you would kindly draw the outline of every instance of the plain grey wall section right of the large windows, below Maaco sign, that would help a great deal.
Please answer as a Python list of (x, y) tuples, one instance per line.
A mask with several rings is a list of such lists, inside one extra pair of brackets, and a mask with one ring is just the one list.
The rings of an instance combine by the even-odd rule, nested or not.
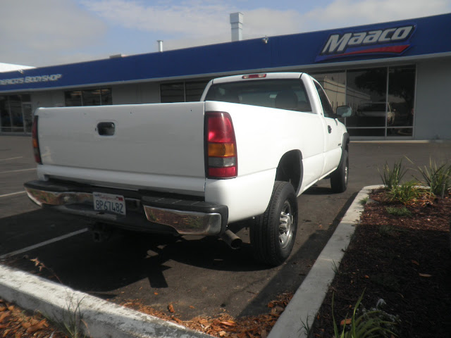
[(416, 68), (414, 139), (451, 139), (451, 58)]

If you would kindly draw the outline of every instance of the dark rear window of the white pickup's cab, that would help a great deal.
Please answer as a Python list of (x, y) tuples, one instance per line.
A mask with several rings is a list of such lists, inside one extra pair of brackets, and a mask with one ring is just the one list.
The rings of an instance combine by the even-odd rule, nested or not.
[(223, 101), (311, 113), (307, 92), (299, 79), (247, 80), (212, 84), (205, 101)]

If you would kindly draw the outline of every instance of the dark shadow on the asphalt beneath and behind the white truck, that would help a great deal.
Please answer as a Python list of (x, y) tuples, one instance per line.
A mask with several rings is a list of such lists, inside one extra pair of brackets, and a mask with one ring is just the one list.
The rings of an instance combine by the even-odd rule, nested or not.
[[(20, 234), (3, 232), (0, 256), (43, 242), (49, 239), (47, 237), (79, 230), (80, 224), (87, 226), (80, 220), (76, 225), (68, 224), (70, 221), (67, 215), (45, 210), (3, 218), (2, 224), (22, 230)], [(30, 223), (35, 227), (30, 229)], [(35, 240), (29, 242), (20, 240), (15, 246), (6, 245), (17, 236), (26, 238), (27, 231), (29, 234), (47, 232), (47, 236), (34, 236)], [(152, 288), (166, 288), (168, 281), (163, 272), (180, 264), (184, 270), (190, 266), (231, 272), (265, 268), (252, 260), (249, 244), (233, 250), (216, 237), (174, 237), (127, 231), (114, 232), (109, 241), (101, 243), (92, 240), (91, 232), (84, 232), (4, 258), (0, 263), (85, 292), (110, 292), (142, 279), (149, 280)]]

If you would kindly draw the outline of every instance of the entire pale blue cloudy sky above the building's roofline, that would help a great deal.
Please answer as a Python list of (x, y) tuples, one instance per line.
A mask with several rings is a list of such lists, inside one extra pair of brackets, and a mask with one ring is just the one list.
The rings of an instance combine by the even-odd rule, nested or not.
[[(0, 63), (36, 67), (421, 18), (451, 0), (0, 0)], [(450, 23), (451, 26), (451, 23)]]

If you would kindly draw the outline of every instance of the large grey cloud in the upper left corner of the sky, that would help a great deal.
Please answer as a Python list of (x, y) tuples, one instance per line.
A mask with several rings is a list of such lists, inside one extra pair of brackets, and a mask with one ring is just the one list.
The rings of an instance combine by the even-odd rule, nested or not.
[(3, 62), (52, 64), (59, 54), (97, 43), (105, 31), (101, 20), (71, 0), (1, 1)]

